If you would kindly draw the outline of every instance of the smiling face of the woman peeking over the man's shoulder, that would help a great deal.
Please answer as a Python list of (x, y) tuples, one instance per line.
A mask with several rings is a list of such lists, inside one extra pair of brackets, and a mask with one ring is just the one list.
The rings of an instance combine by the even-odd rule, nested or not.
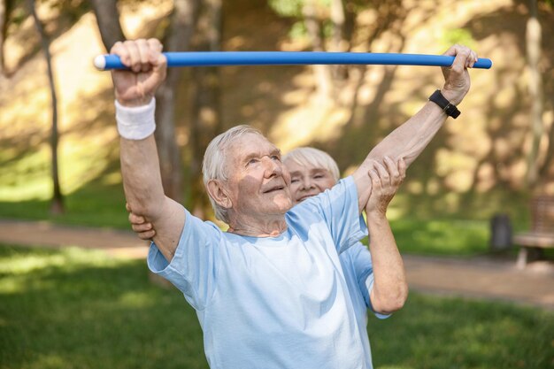
[(299, 165), (294, 160), (288, 160), (286, 165), (291, 179), (290, 193), (295, 205), (335, 186), (335, 179), (325, 168)]

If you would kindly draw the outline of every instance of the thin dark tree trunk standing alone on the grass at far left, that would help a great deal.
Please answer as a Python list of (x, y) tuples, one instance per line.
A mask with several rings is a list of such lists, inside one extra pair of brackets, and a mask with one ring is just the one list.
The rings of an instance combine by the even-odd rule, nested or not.
[(56, 97), (56, 85), (54, 83), (54, 73), (52, 71), (52, 63), (50, 56), (50, 40), (45, 34), (42, 27), (41, 19), (38, 18), (35, 10), (35, 0), (27, 0), (29, 11), (35, 20), (35, 27), (39, 35), (41, 35), (41, 47), (46, 58), (48, 66), (48, 81), (50, 82), (50, 96), (52, 99), (52, 131), (50, 135), (50, 148), (52, 152), (52, 183), (53, 193), (50, 203), (50, 212), (59, 214), (64, 212), (64, 200), (59, 187), (58, 175), (58, 98)]

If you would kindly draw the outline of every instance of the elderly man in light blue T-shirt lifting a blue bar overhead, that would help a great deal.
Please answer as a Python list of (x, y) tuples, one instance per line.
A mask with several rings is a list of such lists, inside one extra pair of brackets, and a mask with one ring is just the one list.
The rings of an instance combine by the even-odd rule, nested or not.
[[(221, 232), (163, 193), (152, 136), (152, 96), (165, 79), (157, 40), (118, 42), (130, 71), (114, 71), (121, 171), (127, 203), (155, 228), (149, 265), (195, 309), (212, 368), (367, 368), (364, 343), (339, 255), (365, 235), (360, 213), (375, 160), (406, 165), (426, 147), (450, 109), (433, 100), (387, 136), (350, 177), (292, 208), (290, 175), (280, 151), (250, 127), (217, 136), (204, 155), (204, 184)], [(469, 89), (473, 51), (453, 46), (442, 99), (456, 105)], [(391, 159), (386, 160), (385, 157)], [(292, 208), (292, 209), (291, 209)], [(394, 277), (390, 277), (394, 279)], [(373, 288), (374, 311), (399, 309), (407, 288)]]

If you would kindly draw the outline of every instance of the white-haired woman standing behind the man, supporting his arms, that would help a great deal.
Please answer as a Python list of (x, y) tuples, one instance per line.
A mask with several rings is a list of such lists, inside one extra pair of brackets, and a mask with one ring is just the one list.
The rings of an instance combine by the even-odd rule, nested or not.
[[(295, 205), (333, 188), (339, 181), (338, 165), (327, 152), (309, 147), (297, 148), (285, 155), (282, 162), (290, 173), (290, 192)], [(373, 188), (365, 205), (374, 262), (369, 250), (361, 242), (356, 242), (339, 255), (359, 335), (364, 343), (365, 363), (372, 362), (366, 330), (367, 309), (373, 310), (372, 291), (376, 288), (394, 290), (395, 287), (407, 291), (404, 265), (386, 215), (390, 200), (404, 181), (406, 166), (403, 159), (396, 165), (390, 165), (393, 163), (389, 160), (387, 162), (387, 167), (375, 163), (375, 170), (370, 171)], [(388, 180), (383, 181), (382, 178)], [(146, 219), (133, 212), (129, 214), (129, 221), (142, 240), (150, 240), (156, 234)], [(373, 312), (380, 319), (389, 317)]]

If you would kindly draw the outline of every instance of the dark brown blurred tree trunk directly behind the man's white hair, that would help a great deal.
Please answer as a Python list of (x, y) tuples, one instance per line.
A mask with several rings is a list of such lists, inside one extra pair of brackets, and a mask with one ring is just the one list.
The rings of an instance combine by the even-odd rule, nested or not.
[[(221, 0), (204, 0), (203, 10), (198, 19), (197, 45), (199, 50), (221, 50)], [(219, 68), (199, 67), (194, 71), (195, 101), (190, 132), (192, 152), (191, 177), (193, 214), (204, 218), (210, 208), (202, 181), (202, 160), (208, 143), (219, 133), (221, 122), (221, 82)]]

